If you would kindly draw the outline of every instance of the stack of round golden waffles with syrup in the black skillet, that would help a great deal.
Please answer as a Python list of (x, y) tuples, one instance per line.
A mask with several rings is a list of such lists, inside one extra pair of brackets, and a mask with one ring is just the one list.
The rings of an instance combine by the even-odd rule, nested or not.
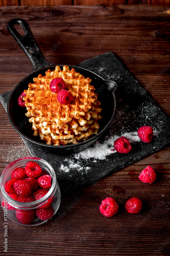
[[(73, 68), (64, 66), (61, 71), (56, 66), (54, 71), (46, 71), (34, 78), (24, 90), (23, 97), (29, 122), (32, 123), (34, 136), (40, 135), (48, 145), (66, 145), (86, 140), (98, 133), (98, 120), (101, 119), (100, 102), (97, 100), (95, 89), (90, 85), (91, 79), (77, 73)], [(60, 104), (57, 93), (50, 89), (50, 81), (61, 77), (66, 83), (66, 90), (73, 95), (71, 104)]]

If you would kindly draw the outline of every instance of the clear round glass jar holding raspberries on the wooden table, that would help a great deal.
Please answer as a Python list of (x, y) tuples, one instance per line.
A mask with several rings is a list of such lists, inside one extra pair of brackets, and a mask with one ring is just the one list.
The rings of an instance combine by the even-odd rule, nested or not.
[[(51, 187), (49, 188), (48, 193), (43, 196), (41, 199), (33, 201), (33, 202), (19, 202), (11, 198), (5, 191), (4, 186), (5, 182), (10, 179), (11, 172), (17, 168), (17, 167), (25, 167), (25, 164), (33, 161), (36, 162), (42, 170), (45, 170), (49, 175), (51, 175), (51, 180), (52, 184)], [(56, 174), (54, 172), (53, 167), (46, 162), (43, 159), (37, 158), (37, 157), (24, 157), (15, 160), (14, 162), (10, 163), (3, 171), (0, 179), (0, 199), (1, 199), (1, 205), (2, 209), (4, 211), (4, 222), (9, 218), (13, 222), (22, 225), (22, 226), (38, 226), (40, 224), (45, 223), (47, 220), (41, 220), (35, 215), (35, 218), (31, 224), (23, 224), (21, 223), (17, 217), (16, 217), (16, 211), (18, 210), (26, 210), (26, 211), (36, 211), (39, 208), (43, 208), (43, 205), (45, 205), (48, 201), (49, 198), (53, 198), (53, 202), (51, 206), (54, 209), (54, 214), (57, 212), (60, 201), (61, 201), (61, 193), (60, 193), (60, 187), (58, 185), (57, 179), (56, 179)], [(29, 213), (29, 212), (28, 212)], [(35, 214), (35, 212), (34, 212)], [(52, 217), (53, 217), (52, 216)]]

